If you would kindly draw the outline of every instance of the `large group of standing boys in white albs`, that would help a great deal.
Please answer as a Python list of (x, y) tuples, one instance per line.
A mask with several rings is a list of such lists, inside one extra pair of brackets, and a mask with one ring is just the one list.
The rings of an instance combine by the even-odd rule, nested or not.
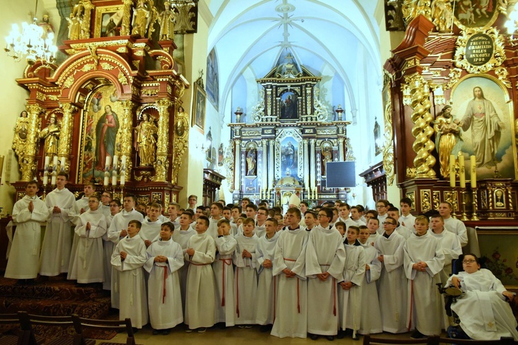
[[(119, 210), (119, 201), (106, 192), (99, 197), (88, 184), (76, 201), (67, 179), (60, 172), (45, 201), (28, 182), (13, 210), (17, 231), (6, 277), (67, 273), (79, 284), (102, 282), (120, 317), (131, 317), (136, 328), (150, 321), (154, 334), (182, 322), (187, 331), (259, 324), (277, 337), (329, 340), (412, 330), (423, 337), (448, 326), (436, 284), (448, 279), (449, 263), (467, 242), (448, 203), (439, 207), (448, 217), (403, 214), (414, 222), (407, 227), (386, 201), (378, 201), (380, 212), (366, 225), (338, 204), (307, 210), (304, 219), (290, 207), (283, 227), (266, 218), (267, 208), (247, 208), (237, 226), (222, 217), (218, 202), (210, 219), (191, 210), (177, 217), (178, 204), (169, 219), (151, 204), (144, 219), (133, 195)], [(457, 228), (445, 227), (445, 219)]]

